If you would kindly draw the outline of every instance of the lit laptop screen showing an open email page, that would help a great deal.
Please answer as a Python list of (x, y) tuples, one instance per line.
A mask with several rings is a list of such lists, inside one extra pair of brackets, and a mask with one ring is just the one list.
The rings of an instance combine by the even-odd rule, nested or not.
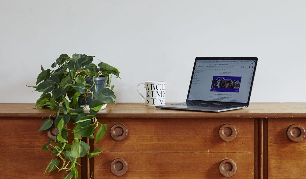
[(256, 60), (198, 59), (187, 100), (248, 103), (255, 68)]

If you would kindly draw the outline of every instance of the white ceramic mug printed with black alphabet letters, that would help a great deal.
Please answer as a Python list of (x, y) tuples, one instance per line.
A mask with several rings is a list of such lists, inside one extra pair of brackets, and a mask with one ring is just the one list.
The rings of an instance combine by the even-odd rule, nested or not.
[[(138, 86), (144, 85), (146, 88), (146, 98), (138, 91)], [(146, 81), (137, 85), (138, 93), (144, 98), (147, 106), (159, 106), (165, 104), (165, 81)]]

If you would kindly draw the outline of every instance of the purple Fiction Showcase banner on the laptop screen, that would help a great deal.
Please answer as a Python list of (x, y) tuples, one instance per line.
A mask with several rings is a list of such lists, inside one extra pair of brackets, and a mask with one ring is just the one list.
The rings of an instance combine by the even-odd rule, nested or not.
[(239, 92), (241, 77), (214, 76), (211, 83), (211, 91)]

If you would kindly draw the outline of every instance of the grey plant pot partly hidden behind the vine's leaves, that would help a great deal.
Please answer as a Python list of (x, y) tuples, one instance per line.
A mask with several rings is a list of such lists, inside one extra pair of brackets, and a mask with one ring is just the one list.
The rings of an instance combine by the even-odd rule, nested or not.
[[(95, 77), (94, 78), (95, 86), (90, 88), (90, 91), (95, 92), (95, 91), (100, 91), (101, 88), (106, 88), (107, 80), (108, 80), (108, 77)], [(88, 84), (91, 84), (91, 85), (93, 84), (92, 77), (91, 78), (90, 77), (86, 78), (85, 81)], [(86, 98), (87, 105), (89, 105), (92, 102), (91, 94), (89, 94), (89, 95), (90, 96)], [(93, 98), (93, 100), (95, 100), (95, 98)], [(86, 101), (85, 101), (85, 98), (83, 96), (81, 105), (85, 106)]]

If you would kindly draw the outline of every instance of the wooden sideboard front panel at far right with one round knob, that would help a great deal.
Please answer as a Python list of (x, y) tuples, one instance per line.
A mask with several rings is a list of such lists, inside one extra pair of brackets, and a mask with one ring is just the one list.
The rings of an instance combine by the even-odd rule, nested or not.
[(269, 178), (305, 178), (306, 139), (303, 139), (303, 128), (306, 128), (305, 119), (268, 120)]

